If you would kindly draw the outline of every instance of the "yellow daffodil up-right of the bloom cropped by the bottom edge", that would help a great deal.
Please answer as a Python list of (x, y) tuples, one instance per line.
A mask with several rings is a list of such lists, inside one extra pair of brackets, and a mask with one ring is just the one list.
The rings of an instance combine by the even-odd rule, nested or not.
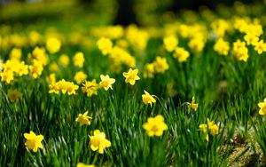
[(111, 142), (106, 139), (106, 133), (99, 130), (93, 131), (93, 136), (90, 137), (90, 148), (92, 151), (97, 151), (99, 154), (104, 154), (104, 149), (111, 147)]

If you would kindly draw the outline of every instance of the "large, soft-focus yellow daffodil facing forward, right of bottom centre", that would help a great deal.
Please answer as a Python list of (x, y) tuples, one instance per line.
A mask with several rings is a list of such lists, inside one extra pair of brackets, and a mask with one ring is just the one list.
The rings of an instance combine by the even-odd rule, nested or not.
[(168, 125), (164, 123), (163, 116), (157, 115), (149, 117), (148, 122), (144, 123), (142, 127), (148, 132), (148, 136), (161, 136), (163, 131), (168, 130)]

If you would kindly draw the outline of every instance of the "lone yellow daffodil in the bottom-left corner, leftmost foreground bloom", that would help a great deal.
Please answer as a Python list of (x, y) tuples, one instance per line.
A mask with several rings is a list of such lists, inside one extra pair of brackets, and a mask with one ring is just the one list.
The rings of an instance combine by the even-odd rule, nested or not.
[(43, 135), (35, 135), (34, 131), (30, 131), (29, 133), (24, 133), (24, 137), (26, 140), (25, 146), (28, 149), (32, 149), (34, 152), (37, 152), (38, 148), (43, 149)]

